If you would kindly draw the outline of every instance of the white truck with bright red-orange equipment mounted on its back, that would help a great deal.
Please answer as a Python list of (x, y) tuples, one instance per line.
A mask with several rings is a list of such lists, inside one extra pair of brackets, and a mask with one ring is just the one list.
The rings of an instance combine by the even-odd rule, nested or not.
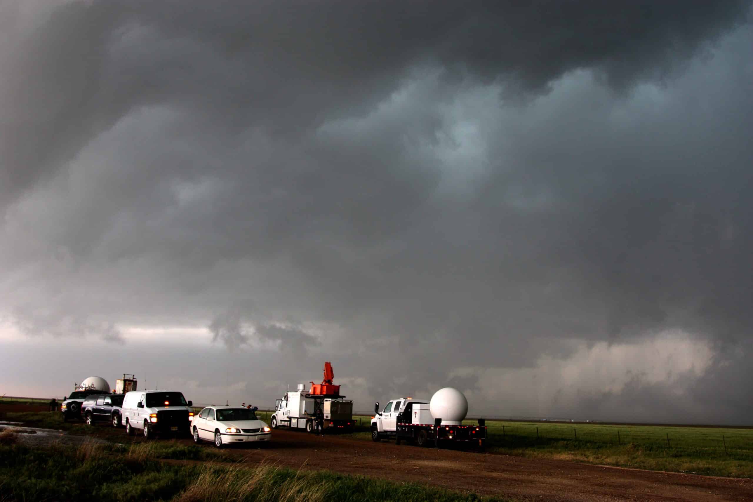
[(316, 432), (316, 419), (320, 415), (325, 431), (349, 431), (353, 427), (353, 401), (340, 394), (340, 385), (334, 385), (332, 365), (325, 363), (325, 377), (321, 384), (298, 384), (297, 390), (285, 392), (285, 397), (275, 401), (275, 411), (270, 426), (306, 429)]

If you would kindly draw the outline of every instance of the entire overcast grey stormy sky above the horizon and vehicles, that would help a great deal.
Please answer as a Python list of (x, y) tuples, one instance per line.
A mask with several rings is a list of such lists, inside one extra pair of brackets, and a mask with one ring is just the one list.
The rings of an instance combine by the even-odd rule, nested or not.
[[(751, 2), (0, 1), (0, 394), (751, 424)], [(145, 382), (144, 382), (145, 381)]]

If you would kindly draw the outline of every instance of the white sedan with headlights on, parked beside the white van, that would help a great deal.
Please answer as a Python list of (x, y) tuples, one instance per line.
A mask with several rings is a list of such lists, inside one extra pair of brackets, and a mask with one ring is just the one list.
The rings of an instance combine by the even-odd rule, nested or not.
[(233, 443), (269, 441), (272, 430), (264, 421), (256, 418), (251, 409), (235, 406), (207, 406), (191, 418), (191, 434), (194, 443), (212, 441), (222, 448)]

